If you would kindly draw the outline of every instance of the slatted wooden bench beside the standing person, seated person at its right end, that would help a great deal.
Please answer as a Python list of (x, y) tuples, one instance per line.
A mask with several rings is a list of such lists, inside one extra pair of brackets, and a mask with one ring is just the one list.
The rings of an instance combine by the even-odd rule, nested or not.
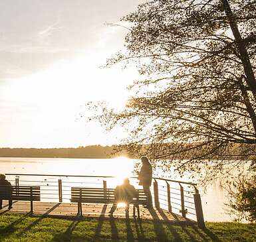
[[(148, 191), (143, 189), (136, 190), (138, 196), (130, 204), (133, 204), (133, 215), (137, 208), (140, 217), (139, 205), (148, 205)], [(77, 202), (78, 214), (82, 216), (82, 203), (88, 204), (113, 204), (113, 188), (71, 188), (71, 202)]]

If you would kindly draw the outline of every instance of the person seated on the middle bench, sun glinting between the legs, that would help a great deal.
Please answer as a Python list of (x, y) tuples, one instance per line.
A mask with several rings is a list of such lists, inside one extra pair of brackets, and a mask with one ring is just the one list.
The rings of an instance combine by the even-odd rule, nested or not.
[(116, 210), (117, 204), (124, 202), (126, 204), (126, 213), (129, 212), (129, 204), (132, 202), (134, 198), (136, 198), (137, 192), (130, 184), (130, 181), (128, 178), (124, 179), (124, 182), (121, 186), (116, 186), (116, 189), (114, 190), (114, 204), (112, 205), (112, 208), (110, 210), (110, 215), (114, 213)]

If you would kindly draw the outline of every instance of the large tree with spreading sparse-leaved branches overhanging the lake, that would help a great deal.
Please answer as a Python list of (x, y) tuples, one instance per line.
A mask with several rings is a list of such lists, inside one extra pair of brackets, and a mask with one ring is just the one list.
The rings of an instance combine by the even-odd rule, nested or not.
[[(255, 159), (256, 2), (152, 0), (122, 18), (125, 50), (106, 66), (136, 63), (144, 80), (123, 111), (102, 108), (108, 128), (128, 127), (130, 152), (182, 170)], [(145, 151), (144, 151), (145, 152)], [(188, 158), (189, 157), (189, 158)], [(209, 163), (211, 160), (211, 163)], [(168, 165), (169, 166), (169, 165)], [(167, 166), (167, 168), (168, 168)]]

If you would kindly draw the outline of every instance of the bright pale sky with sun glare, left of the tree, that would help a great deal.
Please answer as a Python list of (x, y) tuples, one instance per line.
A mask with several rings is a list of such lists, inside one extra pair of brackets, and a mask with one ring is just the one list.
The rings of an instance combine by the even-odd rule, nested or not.
[(136, 69), (100, 66), (127, 33), (106, 23), (120, 23), (139, 3), (0, 1), (0, 147), (112, 145), (124, 137), (120, 127), (106, 133), (80, 113), (88, 101), (125, 105)]

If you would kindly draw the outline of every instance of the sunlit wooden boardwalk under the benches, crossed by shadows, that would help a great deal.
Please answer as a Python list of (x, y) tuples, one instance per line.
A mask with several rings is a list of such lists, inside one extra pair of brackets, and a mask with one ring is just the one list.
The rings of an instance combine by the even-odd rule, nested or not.
[[(83, 204), (82, 215), (84, 217), (104, 218), (109, 217), (108, 211), (111, 204)], [(76, 216), (77, 204), (72, 203), (56, 203), (56, 202), (33, 202), (33, 210), (35, 215), (45, 216)], [(28, 213), (30, 212), (30, 202), (14, 201), (13, 208), (8, 210), (8, 202), (3, 201), (3, 209), (1, 213)], [(137, 214), (136, 214), (137, 215)], [(124, 208), (117, 208), (114, 212), (116, 218), (127, 218)], [(133, 218), (132, 205), (130, 206), (129, 217)], [(140, 206), (140, 218), (148, 220), (168, 221), (170, 223), (196, 223), (191, 219), (186, 219), (175, 213), (169, 213), (162, 209), (150, 209)]]

